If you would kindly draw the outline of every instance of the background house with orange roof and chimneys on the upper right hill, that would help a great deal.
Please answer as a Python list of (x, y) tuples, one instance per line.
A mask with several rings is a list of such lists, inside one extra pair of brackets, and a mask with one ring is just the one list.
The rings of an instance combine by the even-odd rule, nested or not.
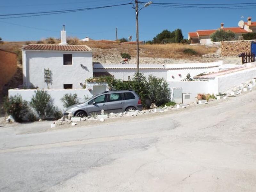
[[(251, 21), (252, 18), (248, 17), (247, 22), (244, 22), (244, 26), (242, 27), (224, 27), (224, 23), (220, 24), (220, 28), (225, 31), (232, 31), (236, 34), (236, 39), (242, 38), (242, 34), (244, 33), (252, 33), (256, 32), (256, 22)], [(210, 30), (197, 30), (196, 32), (189, 32), (188, 39), (191, 40), (191, 44), (212, 44), (212, 40), (210, 36), (218, 29), (210, 29)]]

